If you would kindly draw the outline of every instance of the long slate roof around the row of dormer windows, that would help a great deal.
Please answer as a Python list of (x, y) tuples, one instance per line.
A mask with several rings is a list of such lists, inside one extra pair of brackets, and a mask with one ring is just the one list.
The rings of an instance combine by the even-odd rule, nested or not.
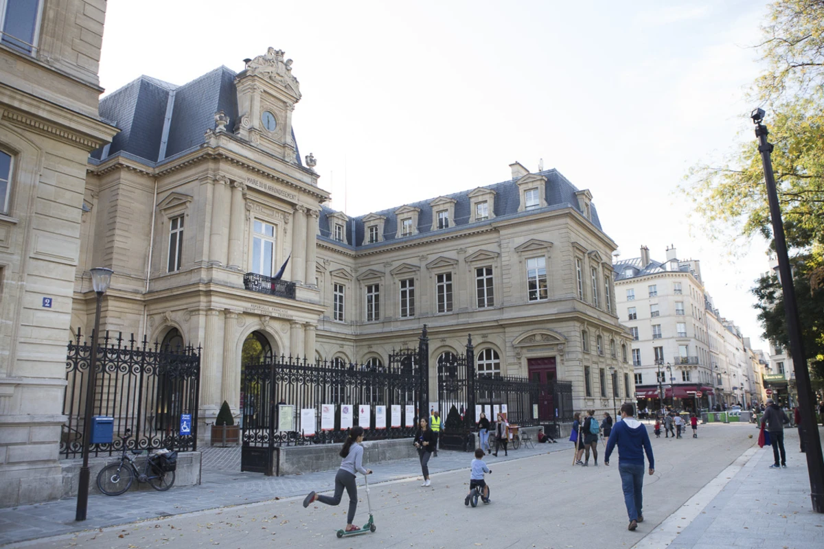
[[(386, 210), (382, 210), (381, 212), (371, 212), (370, 214), (367, 214), (376, 214), (378, 216), (386, 217), (386, 223), (383, 227), (383, 242), (377, 242), (375, 244), (362, 244), (364, 239), (363, 218), (366, 215), (349, 219), (349, 223), (346, 224), (346, 242), (348, 244), (343, 244), (342, 242), (334, 240), (330, 234), (328, 215), (330, 213), (335, 213), (335, 210), (328, 207), (323, 207), (321, 218), (319, 220), (321, 230), (319, 239), (334, 242), (336, 245), (344, 246), (349, 249), (365, 250), (379, 248), (381, 246), (385, 246), (386, 244), (396, 244), (401, 241), (416, 240), (427, 236), (432, 236), (433, 234), (448, 235), (453, 231), (465, 230), (467, 226), (485, 226), (490, 223), (494, 223), (495, 221), (501, 221), (502, 219), (514, 218), (517, 216), (532, 216), (536, 212), (552, 212), (567, 207), (573, 207), (578, 210), (578, 212), (581, 212), (581, 208), (578, 207), (578, 197), (575, 196), (575, 193), (577, 193), (579, 189), (575, 187), (574, 184), (570, 183), (569, 179), (566, 179), (559, 173), (558, 170), (554, 169), (538, 172), (537, 175), (543, 175), (546, 178), (546, 207), (531, 209), (528, 212), (518, 212), (517, 210), (521, 201), (520, 193), (517, 187), (517, 179), (511, 179), (509, 181), (503, 181), (501, 183), (484, 187), (485, 189), (495, 192), (494, 218), (490, 220), (476, 221), (475, 223), (469, 222), (471, 214), (471, 199), (469, 198), (469, 193), (475, 190), (475, 188), (471, 188), (469, 190), (462, 191), (461, 193), (442, 195), (445, 198), (452, 198), (456, 201), (455, 219), (450, 220), (452, 226), (448, 229), (432, 230), (433, 207), (429, 204), (435, 198), (439, 198), (433, 197), (428, 198), (427, 200), (421, 200), (419, 202), (412, 202), (410, 204), (402, 204), (400, 206), (391, 207)], [(397, 238), (398, 219), (395, 212), (401, 206), (417, 207), (420, 209), (420, 213), (418, 215), (418, 234)], [(602, 230), (601, 221), (598, 219), (598, 213), (594, 204), (590, 204), (590, 212), (592, 213), (592, 224), (596, 226), (598, 230)]]

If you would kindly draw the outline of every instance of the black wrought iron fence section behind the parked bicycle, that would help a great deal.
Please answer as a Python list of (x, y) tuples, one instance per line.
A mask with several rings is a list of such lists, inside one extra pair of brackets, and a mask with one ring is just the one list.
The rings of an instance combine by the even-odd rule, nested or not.
[[(66, 393), (60, 455), (76, 458), (82, 454), (85, 425), (87, 375), (91, 365), (91, 343), (77, 337), (68, 343)], [(159, 342), (142, 342), (134, 336), (105, 333), (97, 347), (94, 416), (114, 420), (114, 440), (91, 444), (91, 455), (113, 454), (121, 449), (119, 435), (132, 431), (129, 447), (135, 449), (197, 448), (200, 348), (162, 347)], [(190, 432), (180, 433), (181, 416), (190, 415)]]

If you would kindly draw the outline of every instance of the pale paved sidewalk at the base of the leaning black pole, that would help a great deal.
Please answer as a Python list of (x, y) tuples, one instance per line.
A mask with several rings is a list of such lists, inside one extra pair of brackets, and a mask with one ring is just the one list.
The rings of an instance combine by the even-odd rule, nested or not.
[[(824, 547), (824, 514), (812, 512), (807, 458), (798, 451), (798, 431), (787, 429), (784, 433), (786, 469), (770, 469), (772, 449), (754, 446), (742, 455), (744, 463), (733, 477), (728, 480), (729, 468), (723, 471), (717, 477), (722, 486), (710, 482), (633, 549)], [(819, 434), (824, 440), (821, 426)], [(703, 496), (709, 492), (711, 499), (706, 497), (707, 504), (695, 509), (702, 500), (701, 492), (705, 492)], [(714, 497), (713, 492), (717, 492)], [(685, 514), (695, 517), (684, 523)]]

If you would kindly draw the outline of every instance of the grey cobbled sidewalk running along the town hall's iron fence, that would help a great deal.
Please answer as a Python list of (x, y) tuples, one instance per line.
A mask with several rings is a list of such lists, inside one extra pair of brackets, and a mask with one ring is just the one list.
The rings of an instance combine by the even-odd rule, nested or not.
[[(534, 449), (522, 446), (509, 452), (508, 457), (503, 454), (499, 454), (499, 458), (489, 456), (489, 463), (571, 449), (572, 446), (568, 441), (535, 444)], [(305, 495), (310, 490), (325, 491), (334, 487), (334, 472), (311, 472), (288, 477), (240, 472), (240, 456), (239, 447), (204, 449), (200, 486), (175, 487), (167, 492), (149, 490), (129, 491), (118, 496), (90, 495), (88, 519), (83, 523), (74, 520), (76, 498), (0, 509), (0, 545), (216, 507)], [(434, 473), (468, 468), (470, 462), (471, 454), (441, 450), (437, 458), (429, 461), (429, 470)], [(376, 483), (420, 476), (420, 465), (414, 458), (370, 464), (370, 467), (375, 471), (372, 482)]]

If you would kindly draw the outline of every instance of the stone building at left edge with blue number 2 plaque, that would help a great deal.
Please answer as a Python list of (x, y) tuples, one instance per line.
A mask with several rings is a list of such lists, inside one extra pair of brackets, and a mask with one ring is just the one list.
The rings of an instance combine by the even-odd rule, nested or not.
[(66, 343), (105, 0), (0, 2), (0, 505), (63, 495)]

